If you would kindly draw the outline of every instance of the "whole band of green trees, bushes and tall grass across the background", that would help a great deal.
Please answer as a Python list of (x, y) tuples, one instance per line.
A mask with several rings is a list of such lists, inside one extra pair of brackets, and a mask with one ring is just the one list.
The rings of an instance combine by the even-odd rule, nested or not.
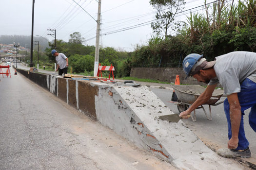
[[(174, 3), (175, 2), (175, 3)], [(102, 66), (115, 67), (115, 77), (124, 80), (163, 83), (150, 79), (129, 78), (132, 67), (182, 67), (184, 57), (190, 53), (203, 54), (208, 61), (218, 55), (231, 51), (256, 52), (256, 0), (238, 1), (219, 0), (207, 4), (203, 13), (190, 14), (187, 23), (176, 21), (174, 16), (184, 5), (184, 0), (150, 0), (157, 10), (158, 22), (152, 23), (153, 33), (147, 45), (137, 45), (135, 51), (117, 51), (112, 47), (100, 48), (99, 63)], [(166, 10), (166, 9), (171, 9)], [(170, 35), (170, 30), (176, 30), (176, 35)], [(57, 40), (58, 52), (69, 58), (69, 70), (72, 73), (93, 75), (95, 47), (83, 45), (84, 38), (75, 32), (68, 42)], [(47, 70), (54, 69), (55, 58), (51, 50), (54, 42), (49, 42), (49, 48), (39, 52), (39, 66)], [(34, 65), (37, 65), (38, 53), (34, 49)], [(29, 63), (30, 57), (25, 58)], [(109, 71), (102, 71), (108, 77)], [(166, 83), (169, 84), (169, 83)]]

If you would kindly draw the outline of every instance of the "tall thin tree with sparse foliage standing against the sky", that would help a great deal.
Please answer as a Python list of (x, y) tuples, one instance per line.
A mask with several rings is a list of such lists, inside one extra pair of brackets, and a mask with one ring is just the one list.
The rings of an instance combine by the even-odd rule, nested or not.
[(185, 0), (150, 0), (150, 4), (157, 10), (157, 21), (151, 23), (153, 33), (161, 34), (163, 32), (167, 39), (168, 29), (177, 12), (185, 4)]

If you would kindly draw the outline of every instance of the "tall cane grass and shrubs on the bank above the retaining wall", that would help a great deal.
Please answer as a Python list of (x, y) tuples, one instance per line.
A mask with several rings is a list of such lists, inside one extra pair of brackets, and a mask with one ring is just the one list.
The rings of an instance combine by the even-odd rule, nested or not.
[(256, 0), (237, 4), (219, 0), (213, 7), (205, 5), (202, 14), (190, 14), (187, 21), (175, 36), (156, 34), (147, 46), (138, 46), (132, 67), (181, 67), (190, 53), (203, 54), (211, 61), (231, 51), (256, 51)]

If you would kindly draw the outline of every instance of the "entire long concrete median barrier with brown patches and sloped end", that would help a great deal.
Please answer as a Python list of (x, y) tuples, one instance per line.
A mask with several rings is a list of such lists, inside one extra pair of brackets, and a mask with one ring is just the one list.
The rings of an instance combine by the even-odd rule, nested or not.
[[(17, 69), (19, 76), (22, 74), (80, 113), (97, 120), (119, 136), (133, 142), (138, 148), (153, 153), (160, 160), (170, 163), (177, 169), (254, 168), (252, 163), (254, 158), (250, 159), (250, 164), (246, 159), (234, 160), (218, 156), (213, 151), (214, 147), (205, 145), (200, 136), (198, 137), (186, 125), (186, 123), (190, 124), (191, 119), (177, 122), (159, 119), (160, 116), (175, 114), (176, 111), (168, 107), (169, 104), (173, 104), (169, 102), (171, 96), (169, 101), (163, 102), (153, 90), (143, 85), (134, 87), (115, 85), (108, 81), (63, 78), (52, 73), (29, 72), (28, 69), (19, 67)], [(213, 109), (212, 111), (214, 112)], [(197, 121), (193, 123), (199, 124), (200, 119), (200, 116), (197, 117)], [(193, 126), (192, 122), (190, 126)], [(221, 133), (225, 134), (223, 131), (225, 130)]]

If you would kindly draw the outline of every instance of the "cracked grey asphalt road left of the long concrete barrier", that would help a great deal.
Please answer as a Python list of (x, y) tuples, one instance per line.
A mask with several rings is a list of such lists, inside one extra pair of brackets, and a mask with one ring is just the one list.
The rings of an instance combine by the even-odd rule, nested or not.
[(14, 69), (0, 80), (0, 170), (175, 170)]

